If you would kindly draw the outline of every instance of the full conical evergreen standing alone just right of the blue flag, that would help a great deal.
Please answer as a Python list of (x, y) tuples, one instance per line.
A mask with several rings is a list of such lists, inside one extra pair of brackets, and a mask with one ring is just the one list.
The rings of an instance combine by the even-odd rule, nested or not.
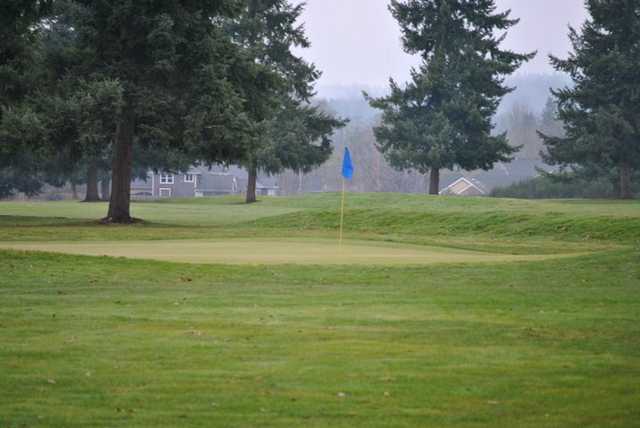
[[(497, 12), (494, 0), (392, 0), (405, 50), (419, 54), (422, 65), (401, 88), (370, 99), (382, 110), (375, 129), (379, 149), (398, 169), (430, 172), (429, 193), (438, 194), (440, 169), (490, 169), (517, 150), (506, 135), (492, 136), (492, 117), (504, 84), (534, 54), (500, 48), (518, 20)], [(365, 94), (366, 95), (366, 94)]]

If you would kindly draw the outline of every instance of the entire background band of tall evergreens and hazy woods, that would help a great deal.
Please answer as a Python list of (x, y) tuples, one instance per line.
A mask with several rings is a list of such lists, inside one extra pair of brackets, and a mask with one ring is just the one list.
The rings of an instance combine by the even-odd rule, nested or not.
[(131, 222), (133, 177), (200, 162), (246, 168), (253, 202), (259, 171), (292, 171), (283, 187), (298, 189), (327, 160), (335, 174), (336, 135), (367, 161), (363, 189), (437, 194), (443, 171), (540, 156), (558, 172), (547, 178), (615, 183), (630, 198), (640, 170), (638, 4), (586, 6), (589, 20), (570, 29), (573, 52), (550, 57), (571, 84), (551, 91), (542, 117), (517, 106), (496, 116), (514, 90), (508, 77), (535, 54), (502, 48), (518, 20), (494, 0), (392, 0), (404, 49), (421, 64), (386, 95), (364, 94), (376, 123), (336, 135), (345, 121), (311, 102), (320, 72), (298, 55), (309, 41), (303, 6), (289, 0), (4, 0), (0, 197), (85, 181), (95, 200), (110, 178), (105, 221)]

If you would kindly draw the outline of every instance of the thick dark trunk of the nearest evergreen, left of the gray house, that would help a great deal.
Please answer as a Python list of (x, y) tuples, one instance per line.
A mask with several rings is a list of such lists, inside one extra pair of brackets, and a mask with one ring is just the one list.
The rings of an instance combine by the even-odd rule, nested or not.
[[(127, 111), (128, 110), (128, 111)], [(130, 214), (133, 136), (133, 113), (125, 109), (116, 130), (115, 150), (111, 164), (111, 197), (106, 223), (132, 223)]]

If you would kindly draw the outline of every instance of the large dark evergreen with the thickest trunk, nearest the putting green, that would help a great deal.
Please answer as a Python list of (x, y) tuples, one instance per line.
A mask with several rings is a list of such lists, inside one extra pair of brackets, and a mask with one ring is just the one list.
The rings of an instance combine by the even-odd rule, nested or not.
[(136, 150), (188, 152), (230, 140), (241, 129), (239, 99), (227, 67), (237, 48), (222, 20), (237, 0), (141, 2), (75, 0), (78, 49), (90, 54), (92, 81), (117, 81), (112, 186), (105, 221), (131, 222), (130, 185)]

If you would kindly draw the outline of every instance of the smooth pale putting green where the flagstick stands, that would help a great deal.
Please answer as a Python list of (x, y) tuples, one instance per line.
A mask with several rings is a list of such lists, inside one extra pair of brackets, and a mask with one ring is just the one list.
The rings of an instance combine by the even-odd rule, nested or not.
[(329, 239), (228, 239), (0, 243), (0, 248), (202, 264), (425, 265), (544, 260), (446, 247)]

